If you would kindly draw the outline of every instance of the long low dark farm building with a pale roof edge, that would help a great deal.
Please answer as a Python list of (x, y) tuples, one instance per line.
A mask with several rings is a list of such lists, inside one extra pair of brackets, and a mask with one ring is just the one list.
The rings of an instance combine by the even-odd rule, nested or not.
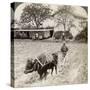
[(54, 32), (53, 28), (12, 30), (11, 38), (42, 40), (52, 37), (53, 32)]

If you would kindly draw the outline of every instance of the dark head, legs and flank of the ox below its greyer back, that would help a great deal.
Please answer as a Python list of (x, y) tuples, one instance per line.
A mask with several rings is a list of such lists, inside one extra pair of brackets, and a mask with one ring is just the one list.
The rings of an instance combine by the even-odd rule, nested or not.
[(57, 63), (58, 63), (58, 55), (57, 53), (53, 53), (52, 54), (53, 60), (50, 62), (45, 62), (44, 65), (41, 65), (41, 63), (35, 59), (35, 60), (28, 60), (26, 67), (25, 67), (25, 71), (24, 73), (31, 73), (33, 71), (37, 71), (38, 74), (40, 75), (40, 79), (42, 79), (43, 77), (45, 77), (48, 74), (47, 70), (51, 69), (51, 74), (53, 73), (53, 70), (55, 68), (56, 74), (57, 74)]

